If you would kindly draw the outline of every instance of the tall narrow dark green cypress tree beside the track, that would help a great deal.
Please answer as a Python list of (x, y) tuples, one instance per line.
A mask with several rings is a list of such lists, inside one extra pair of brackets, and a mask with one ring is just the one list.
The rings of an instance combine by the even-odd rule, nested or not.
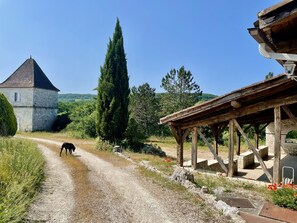
[(110, 142), (123, 139), (128, 123), (129, 78), (124, 40), (117, 19), (112, 40), (109, 40), (105, 62), (100, 67), (98, 83), (98, 135)]

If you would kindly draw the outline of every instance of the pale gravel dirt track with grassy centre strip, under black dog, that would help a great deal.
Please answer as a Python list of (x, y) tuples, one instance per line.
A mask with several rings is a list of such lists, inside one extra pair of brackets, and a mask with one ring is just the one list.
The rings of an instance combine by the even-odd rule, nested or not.
[(59, 157), (61, 142), (34, 140), (46, 158), (47, 179), (29, 222), (229, 222), (202, 201), (141, 177), (127, 161), (107, 162), (78, 147), (74, 156)]

